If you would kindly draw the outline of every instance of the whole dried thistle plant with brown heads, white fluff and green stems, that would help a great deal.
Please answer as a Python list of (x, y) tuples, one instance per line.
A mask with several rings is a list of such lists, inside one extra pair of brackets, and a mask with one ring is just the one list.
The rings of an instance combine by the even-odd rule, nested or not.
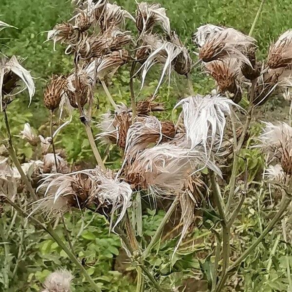
[[(271, 45), (265, 61), (257, 60), (256, 39), (251, 35), (261, 5), (249, 35), (213, 24), (199, 27), (192, 36), (198, 51), (198, 59), (193, 62), (160, 4), (137, 3), (135, 17), (107, 0), (78, 0), (74, 5), (73, 17), (56, 24), (47, 37), (53, 41), (54, 49), (56, 45), (64, 46), (64, 53), (72, 57), (72, 71), (68, 75), (54, 74), (44, 90), (43, 102), (50, 110), (49, 136), (37, 136), (29, 124), (20, 133), (38, 153), (36, 161), (20, 164), (6, 114), (6, 108), (19, 93), (19, 81), (24, 83), (31, 101), (35, 93), (33, 78), (15, 56), (0, 63), (0, 103), (7, 130), (6, 136), (1, 135), (3, 143), (8, 139), (10, 154), (9, 159), (0, 160), (0, 196), (57, 242), (93, 291), (101, 291), (100, 286), (75, 255), (70, 237), (64, 243), (52, 225), (58, 225), (66, 213), (88, 209), (92, 215), (105, 216), (109, 232), (120, 237), (135, 268), (137, 292), (178, 291), (178, 287), (164, 285), (162, 271), (153, 269), (150, 258), (154, 250), (159, 251), (165, 226), (175, 212), (180, 222), (175, 226), (179, 236), (172, 256), (180, 251), (194, 224), (206, 223), (205, 218), (200, 218), (202, 223), (198, 224), (197, 212), (200, 217), (207, 213), (212, 218), (208, 227), (212, 248), (209, 259), (205, 256), (201, 260), (211, 263), (209, 290), (223, 291), (228, 278), (280, 222), (291, 203), (292, 128), (280, 121), (263, 122), (256, 146), (266, 158), (267, 167), (260, 183), (270, 184), (275, 192), (280, 189), (281, 200), (257, 239), (237, 256), (232, 249), (232, 232), (247, 203), (246, 197), (258, 183), (248, 179), (248, 165), (239, 173), (239, 158), (242, 150), (249, 147), (255, 112), (292, 85), (291, 31)], [(126, 30), (128, 22), (136, 29)], [(0, 26), (8, 25), (0, 22)], [(195, 66), (214, 78), (214, 91), (193, 93), (189, 76)], [(155, 90), (136, 100), (153, 67), (161, 69)], [(127, 104), (117, 104), (110, 93), (111, 79), (121, 70), (129, 71), (130, 76)], [(173, 105), (178, 117), (165, 120), (165, 101), (159, 99), (158, 92), (165, 79), (169, 86), (172, 73), (186, 77), (189, 92)], [(92, 119), (96, 112), (100, 113), (95, 110), (100, 91), (105, 92), (108, 104), (98, 115), (95, 129)], [(67, 122), (62, 124), (57, 119), (58, 110), (60, 116), (69, 113)], [(74, 112), (79, 115), (96, 160), (89, 169), (70, 165), (64, 149), (56, 147), (57, 134), (71, 123)], [(61, 125), (54, 131), (56, 124)], [(95, 138), (92, 128), (98, 131)], [(107, 157), (100, 154), (100, 149), (110, 144), (120, 149), (121, 166), (117, 169), (110, 169)], [(25, 205), (17, 191), (22, 183), (23, 193), (30, 194)], [(141, 196), (145, 201), (153, 198), (170, 202), (147, 242), (141, 240), (138, 224), (133, 224), (137, 202), (142, 216)], [(137, 220), (142, 222), (141, 218)], [(204, 272), (202, 269), (201, 276)], [(69, 292), (72, 280), (68, 271), (53, 272), (43, 288), (45, 292)]]

